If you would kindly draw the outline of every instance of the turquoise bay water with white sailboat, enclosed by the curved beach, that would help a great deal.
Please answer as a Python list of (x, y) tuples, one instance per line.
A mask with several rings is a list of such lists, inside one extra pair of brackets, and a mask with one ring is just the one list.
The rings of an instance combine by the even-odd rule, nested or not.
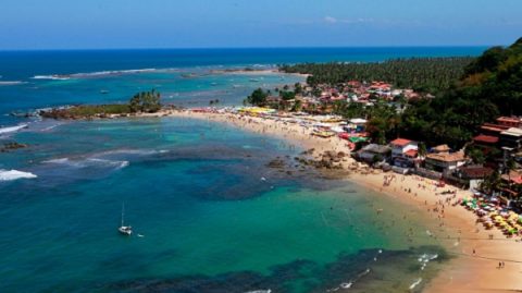
[[(29, 148), (1, 155), (0, 168), (38, 176), (0, 183), (2, 292), (311, 292), (372, 268), (362, 290), (397, 279), (397, 259), (400, 291), (433, 273), (417, 259), (439, 248), (418, 216), (401, 221), (399, 205), (313, 170), (265, 167), (291, 162), (285, 142), (183, 119), (41, 124), (14, 137)], [(122, 203), (135, 236), (116, 231)]]

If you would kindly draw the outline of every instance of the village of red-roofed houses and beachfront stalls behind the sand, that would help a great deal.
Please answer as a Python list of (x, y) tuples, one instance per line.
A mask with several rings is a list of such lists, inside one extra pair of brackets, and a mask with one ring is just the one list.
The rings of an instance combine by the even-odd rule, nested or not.
[[(480, 134), (464, 148), (472, 146), (485, 155), (494, 148), (500, 149), (504, 151), (504, 159), (476, 163), (465, 155), (464, 148), (451, 149), (445, 144), (424, 146), (415, 142), (414, 137), (398, 137), (387, 145), (378, 145), (371, 142), (365, 131), (368, 121), (364, 118), (345, 120), (338, 115), (325, 114), (328, 112), (327, 109), (310, 111), (311, 105), (323, 105), (323, 108), (324, 105), (327, 107), (330, 105), (331, 107), (336, 100), (372, 107), (376, 99), (384, 99), (391, 103), (399, 96), (405, 99), (433, 98), (433, 96), (421, 97), (412, 89), (397, 89), (384, 82), (351, 81), (337, 87), (320, 85), (315, 90), (318, 88), (321, 90), (320, 96), (312, 95), (313, 89), (304, 85), (302, 91), (294, 99), (283, 101), (281, 97), (274, 96), (269, 96), (266, 99), (268, 103), (272, 106), (274, 102), (288, 102), (290, 107), (298, 100), (302, 106), (301, 111), (275, 110), (274, 108), (277, 107), (225, 108), (217, 111), (275, 119), (284, 121), (284, 123), (297, 123), (312, 130), (313, 135), (325, 139), (338, 136), (346, 139), (355, 159), (373, 168), (382, 169), (385, 172), (417, 174), (437, 180), (442, 184), (469, 188), (475, 193), (484, 192), (481, 188), (484, 180), (492, 176), (494, 172), (498, 172), (499, 182), (495, 185), (495, 190), (488, 191), (488, 196), (501, 198), (505, 206), (522, 210), (522, 202), (519, 200), (520, 191), (522, 191), (522, 169), (507, 168), (508, 160), (522, 163), (522, 118), (499, 117), (495, 123), (482, 125)], [(214, 108), (192, 109), (192, 111), (209, 111), (210, 109), (215, 111)], [(313, 107), (313, 109), (318, 108)], [(400, 110), (397, 108), (397, 111)]]

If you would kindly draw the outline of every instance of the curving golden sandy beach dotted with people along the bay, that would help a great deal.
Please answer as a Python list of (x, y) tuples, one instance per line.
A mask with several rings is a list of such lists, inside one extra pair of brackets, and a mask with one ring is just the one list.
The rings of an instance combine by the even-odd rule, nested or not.
[[(178, 117), (227, 123), (247, 131), (287, 139), (295, 146), (313, 148), (314, 156), (323, 151), (349, 154), (346, 141), (336, 136), (321, 138), (311, 135), (311, 130), (296, 123), (287, 123), (258, 117), (234, 113), (192, 112), (164, 110), (145, 117)], [(433, 219), (430, 232), (446, 246), (453, 258), (427, 285), (425, 292), (512, 292), (522, 290), (522, 242), (507, 239), (497, 229), (485, 230), (476, 223), (476, 216), (460, 205), (459, 198), (470, 196), (469, 191), (453, 186), (437, 187), (432, 180), (417, 175), (400, 175), (393, 172), (357, 168), (352, 159), (341, 162), (351, 172), (346, 178), (364, 187), (396, 198)], [(387, 184), (384, 184), (387, 182)], [(451, 194), (442, 192), (451, 191)], [(499, 265), (504, 261), (504, 267)]]

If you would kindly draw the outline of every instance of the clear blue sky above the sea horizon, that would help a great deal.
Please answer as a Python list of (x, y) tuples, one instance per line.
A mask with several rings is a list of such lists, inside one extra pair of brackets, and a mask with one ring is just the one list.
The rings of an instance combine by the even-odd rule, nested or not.
[(508, 45), (521, 0), (1, 0), (0, 49)]

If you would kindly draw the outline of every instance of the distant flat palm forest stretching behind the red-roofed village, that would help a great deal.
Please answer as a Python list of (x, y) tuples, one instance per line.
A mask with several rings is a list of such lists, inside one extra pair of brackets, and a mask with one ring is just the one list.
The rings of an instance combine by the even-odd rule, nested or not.
[(303, 63), (283, 65), (288, 73), (311, 74), (307, 83), (338, 84), (347, 81), (385, 81), (397, 87), (423, 93), (437, 93), (448, 88), (462, 76), (473, 58), (412, 58), (375, 63)]

